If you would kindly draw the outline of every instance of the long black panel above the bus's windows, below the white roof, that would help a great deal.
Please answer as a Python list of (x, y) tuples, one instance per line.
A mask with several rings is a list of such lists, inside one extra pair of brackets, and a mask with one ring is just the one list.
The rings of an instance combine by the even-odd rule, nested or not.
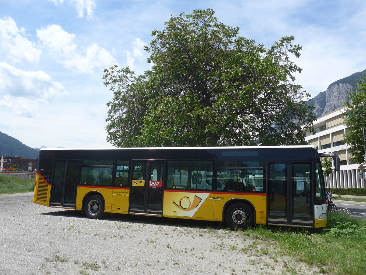
[[(239, 147), (240, 148), (240, 147)], [(317, 150), (305, 147), (197, 147), (197, 148), (127, 148), (127, 149), (46, 149), (41, 159), (169, 159), (169, 160), (304, 160), (315, 159)]]

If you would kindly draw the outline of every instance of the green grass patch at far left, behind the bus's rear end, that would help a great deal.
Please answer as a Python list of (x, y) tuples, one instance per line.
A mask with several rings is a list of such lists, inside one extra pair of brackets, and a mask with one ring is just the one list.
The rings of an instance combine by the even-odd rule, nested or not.
[(0, 194), (34, 191), (34, 181), (34, 179), (22, 179), (16, 176), (0, 175)]

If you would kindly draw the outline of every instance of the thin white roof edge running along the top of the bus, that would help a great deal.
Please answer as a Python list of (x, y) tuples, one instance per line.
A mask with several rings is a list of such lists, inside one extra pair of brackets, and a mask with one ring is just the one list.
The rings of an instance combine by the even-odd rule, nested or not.
[(256, 148), (315, 148), (313, 145), (280, 145), (280, 146), (211, 146), (211, 147), (127, 147), (127, 148), (118, 148), (118, 147), (108, 147), (108, 148), (41, 148), (42, 150), (156, 150), (156, 149), (165, 149), (165, 150), (173, 150), (173, 149), (256, 149)]

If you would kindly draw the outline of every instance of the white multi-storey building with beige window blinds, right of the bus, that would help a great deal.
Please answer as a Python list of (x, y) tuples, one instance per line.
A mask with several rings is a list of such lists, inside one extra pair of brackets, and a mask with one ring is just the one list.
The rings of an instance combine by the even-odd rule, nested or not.
[(314, 122), (315, 135), (307, 133), (305, 142), (314, 145), (320, 153), (334, 153), (341, 161), (340, 172), (334, 172), (326, 177), (326, 187), (330, 188), (366, 188), (366, 180), (359, 179), (359, 164), (351, 164), (347, 145), (343, 142), (346, 132), (344, 124), (344, 108), (317, 118)]

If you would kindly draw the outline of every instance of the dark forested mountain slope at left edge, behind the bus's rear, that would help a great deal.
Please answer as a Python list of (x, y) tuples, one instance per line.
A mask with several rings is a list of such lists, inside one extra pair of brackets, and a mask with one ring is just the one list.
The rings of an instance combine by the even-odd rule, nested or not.
[(4, 157), (18, 156), (37, 159), (39, 149), (30, 148), (18, 139), (0, 132), (0, 154), (3, 154)]

